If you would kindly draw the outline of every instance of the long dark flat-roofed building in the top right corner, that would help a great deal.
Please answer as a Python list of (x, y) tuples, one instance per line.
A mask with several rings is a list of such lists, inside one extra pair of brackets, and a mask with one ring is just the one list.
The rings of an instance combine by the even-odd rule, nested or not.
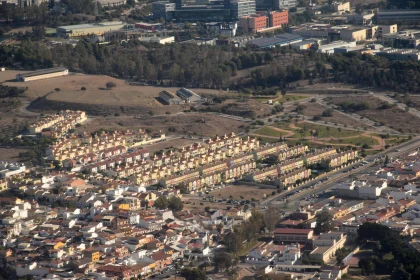
[(376, 12), (378, 24), (416, 25), (420, 23), (420, 10), (379, 10)]

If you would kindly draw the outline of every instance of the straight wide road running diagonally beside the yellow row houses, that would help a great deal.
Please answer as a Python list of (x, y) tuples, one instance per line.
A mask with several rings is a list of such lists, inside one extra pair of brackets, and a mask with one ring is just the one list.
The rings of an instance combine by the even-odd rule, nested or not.
[[(298, 201), (298, 200), (300, 200), (304, 197), (310, 196), (312, 194), (316, 194), (316, 193), (331, 189), (332, 187), (334, 187), (336, 185), (337, 182), (348, 178), (350, 175), (356, 174), (356, 173), (362, 173), (362, 172), (366, 171), (366, 169), (368, 169), (369, 167), (371, 167), (375, 164), (376, 159), (380, 159), (381, 157), (385, 156), (386, 154), (388, 154), (391, 157), (397, 157), (397, 156), (406, 154), (409, 151), (414, 150), (414, 149), (419, 148), (419, 147), (420, 147), (420, 138), (414, 138), (414, 139), (412, 139), (408, 142), (405, 142), (401, 145), (395, 146), (390, 150), (386, 150), (386, 151), (380, 152), (380, 153), (375, 154), (375, 155), (367, 156), (364, 160), (368, 161), (369, 162), (368, 164), (365, 164), (361, 167), (353, 169), (353, 166), (356, 166), (356, 165), (360, 164), (360, 162), (356, 162), (356, 163), (353, 163), (353, 164), (351, 164), (351, 165), (349, 165), (345, 168), (342, 168), (342, 169), (339, 169), (337, 171), (331, 172), (328, 175), (321, 175), (318, 178), (316, 178), (315, 180), (307, 182), (306, 184), (303, 184), (303, 185), (301, 185), (299, 187), (296, 187), (296, 188), (293, 188), (291, 190), (281, 192), (280, 194), (278, 194), (274, 197), (270, 197), (270, 198), (266, 199), (265, 201), (260, 203), (260, 206), (266, 207), (266, 206), (269, 206), (271, 204), (275, 204), (276, 201), (282, 201), (286, 198), (286, 196), (288, 196), (292, 193), (295, 193), (296, 191), (299, 191), (299, 190), (302, 190), (302, 191), (287, 197), (287, 201), (288, 202)], [(324, 181), (324, 182), (321, 182), (320, 184), (318, 184), (314, 188), (307, 188), (311, 185), (314, 185), (316, 182), (320, 182), (320, 181)]]

